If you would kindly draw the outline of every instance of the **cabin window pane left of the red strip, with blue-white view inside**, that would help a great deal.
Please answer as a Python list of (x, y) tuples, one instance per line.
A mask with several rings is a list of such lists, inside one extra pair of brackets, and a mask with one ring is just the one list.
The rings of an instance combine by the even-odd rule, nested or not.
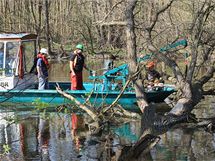
[(12, 76), (17, 66), (19, 42), (6, 43), (5, 75)]

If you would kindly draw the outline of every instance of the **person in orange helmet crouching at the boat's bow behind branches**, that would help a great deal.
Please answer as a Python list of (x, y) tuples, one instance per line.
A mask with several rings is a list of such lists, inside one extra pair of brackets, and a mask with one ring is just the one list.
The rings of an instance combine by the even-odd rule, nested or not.
[(146, 65), (146, 80), (148, 81), (147, 88), (152, 90), (153, 87), (163, 87), (163, 79), (158, 71), (154, 69), (155, 63), (153, 61)]

